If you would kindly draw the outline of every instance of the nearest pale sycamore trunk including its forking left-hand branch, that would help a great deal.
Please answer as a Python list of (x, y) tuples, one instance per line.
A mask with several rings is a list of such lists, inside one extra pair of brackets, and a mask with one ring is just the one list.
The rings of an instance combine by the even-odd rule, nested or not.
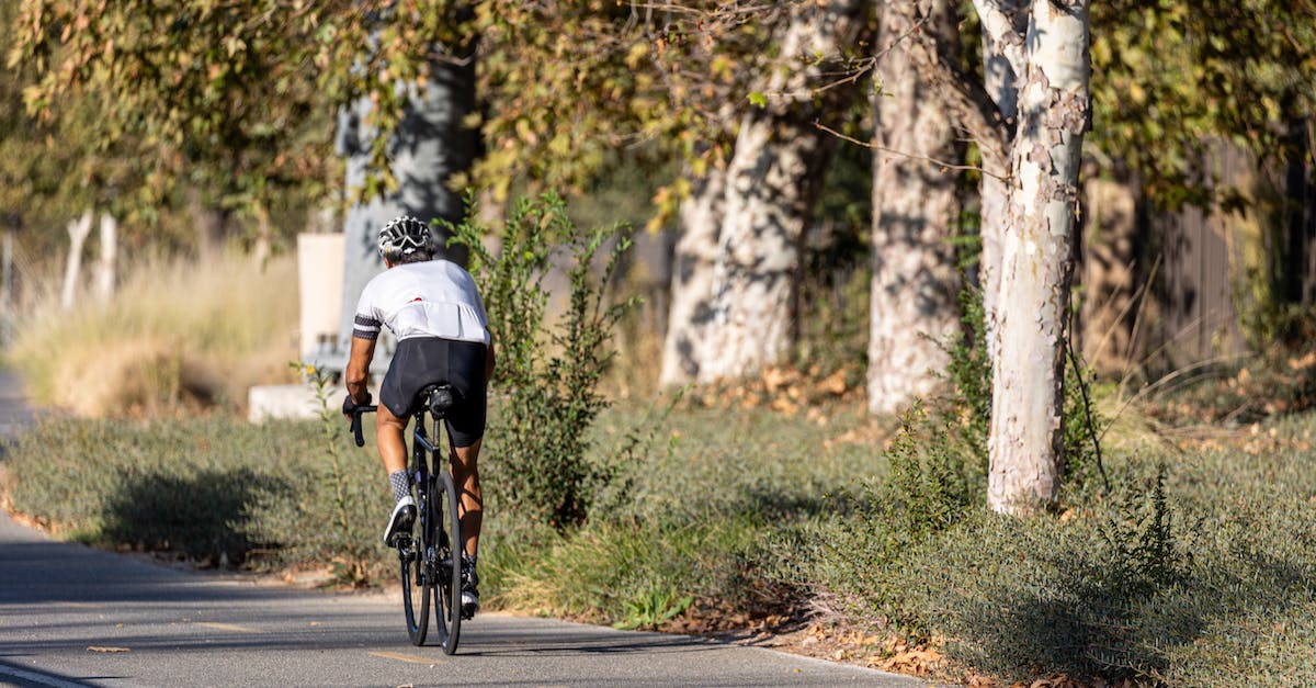
[[(1026, 514), (1055, 498), (1061, 473), (1065, 324), (1091, 105), (1087, 0), (1015, 3), (974, 0), (988, 62), (998, 65), (988, 65), (987, 84), (930, 33), (911, 42), (911, 54), (978, 144), (990, 178), (982, 219), (992, 368), (987, 503)], [(1003, 116), (1011, 103), (1013, 120)]]

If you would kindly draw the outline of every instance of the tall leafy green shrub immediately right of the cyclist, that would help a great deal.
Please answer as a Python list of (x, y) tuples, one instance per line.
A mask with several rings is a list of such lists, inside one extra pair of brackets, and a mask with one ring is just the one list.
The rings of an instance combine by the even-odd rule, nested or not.
[[(554, 195), (515, 204), (497, 254), (471, 223), (453, 233), (470, 248), (471, 273), (490, 314), (497, 345), (491, 390), (501, 398), (491, 416), (499, 443), (484, 461), (484, 485), (497, 509), (559, 530), (578, 526), (615, 471), (611, 463), (588, 460), (587, 431), (607, 406), (599, 380), (612, 357), (613, 326), (632, 304), (607, 299), (630, 248), (628, 231), (615, 225), (582, 235)], [(544, 282), (562, 253), (570, 293), (565, 312), (550, 324)]]

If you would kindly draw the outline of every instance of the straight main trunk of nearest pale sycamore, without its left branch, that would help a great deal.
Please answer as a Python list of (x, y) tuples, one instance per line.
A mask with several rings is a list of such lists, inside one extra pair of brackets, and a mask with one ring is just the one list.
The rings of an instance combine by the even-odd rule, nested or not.
[(1086, 0), (1034, 0), (1023, 43), (1028, 49), (994, 318), (999, 355), (992, 361), (987, 503), (1000, 513), (1032, 513), (1055, 497), (1065, 315), (1090, 113), (1087, 29)]

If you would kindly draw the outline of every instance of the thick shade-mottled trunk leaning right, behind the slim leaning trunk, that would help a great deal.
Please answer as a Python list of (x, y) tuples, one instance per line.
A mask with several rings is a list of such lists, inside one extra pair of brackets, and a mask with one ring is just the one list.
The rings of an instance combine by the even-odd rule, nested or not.
[(801, 4), (780, 42), (782, 61), (765, 80), (766, 104), (741, 120), (726, 170), (711, 327), (696, 348), (700, 382), (757, 373), (788, 351), (800, 241), (836, 145), (815, 121), (854, 95), (832, 83), (829, 63), (854, 45), (867, 7)]

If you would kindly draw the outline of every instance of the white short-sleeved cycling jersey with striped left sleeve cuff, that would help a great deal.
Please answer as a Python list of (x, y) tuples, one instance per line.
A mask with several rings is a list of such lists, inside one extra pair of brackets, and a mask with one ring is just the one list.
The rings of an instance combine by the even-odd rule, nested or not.
[(395, 265), (366, 283), (351, 336), (375, 339), (380, 326), (399, 341), (442, 337), (490, 343), (488, 314), (475, 279), (445, 260)]

